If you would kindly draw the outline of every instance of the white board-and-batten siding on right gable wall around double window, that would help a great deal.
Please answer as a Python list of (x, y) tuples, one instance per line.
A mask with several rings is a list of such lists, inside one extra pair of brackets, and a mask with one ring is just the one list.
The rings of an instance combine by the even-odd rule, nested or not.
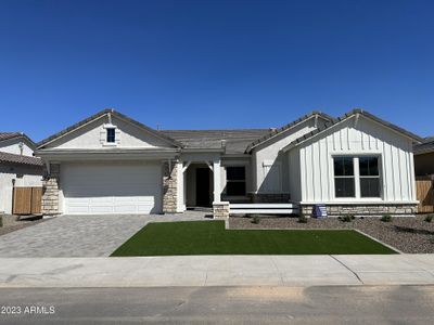
[[(288, 154), (291, 195), (302, 203), (416, 202), (411, 140), (362, 116), (357, 123), (355, 118), (343, 121)], [(381, 198), (335, 198), (333, 157), (340, 155), (380, 157)]]

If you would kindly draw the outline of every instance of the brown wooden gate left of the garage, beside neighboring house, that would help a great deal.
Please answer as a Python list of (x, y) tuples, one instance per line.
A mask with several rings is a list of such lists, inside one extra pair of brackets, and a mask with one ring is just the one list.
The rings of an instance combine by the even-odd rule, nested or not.
[(12, 213), (38, 214), (42, 206), (42, 187), (14, 187)]

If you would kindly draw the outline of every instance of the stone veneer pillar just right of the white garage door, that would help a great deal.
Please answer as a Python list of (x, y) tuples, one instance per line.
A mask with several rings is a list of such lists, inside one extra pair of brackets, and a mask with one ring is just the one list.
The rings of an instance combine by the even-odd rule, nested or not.
[(178, 202), (178, 169), (176, 161), (171, 161), (169, 170), (168, 161), (163, 162), (163, 212), (177, 212)]

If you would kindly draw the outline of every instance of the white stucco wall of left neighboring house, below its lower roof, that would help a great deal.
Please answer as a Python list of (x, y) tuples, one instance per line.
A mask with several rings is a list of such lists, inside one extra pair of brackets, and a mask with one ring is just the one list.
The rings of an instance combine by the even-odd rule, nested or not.
[[(13, 180), (16, 187), (42, 186), (41, 169), (14, 165), (0, 165), (0, 212), (12, 213)], [(23, 174), (18, 178), (17, 174)]]

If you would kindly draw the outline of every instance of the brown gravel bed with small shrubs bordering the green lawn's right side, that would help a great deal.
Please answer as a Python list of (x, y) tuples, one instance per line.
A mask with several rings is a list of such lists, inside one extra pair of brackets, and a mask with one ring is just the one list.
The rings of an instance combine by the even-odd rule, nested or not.
[(314, 219), (299, 223), (297, 218), (260, 218), (259, 223), (253, 223), (253, 218), (231, 217), (230, 229), (356, 229), (381, 242), (407, 253), (434, 252), (434, 220), (424, 221), (425, 216), (396, 217), (392, 222), (383, 222), (380, 218), (356, 218), (343, 222), (337, 218)]

